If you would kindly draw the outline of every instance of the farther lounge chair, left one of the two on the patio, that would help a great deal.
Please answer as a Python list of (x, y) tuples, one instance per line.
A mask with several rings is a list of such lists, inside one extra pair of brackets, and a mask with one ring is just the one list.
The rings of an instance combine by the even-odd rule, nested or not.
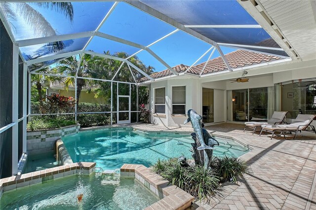
[(285, 123), (285, 115), (288, 111), (275, 111), (273, 112), (273, 115), (270, 120), (267, 122), (245, 122), (245, 128), (243, 129), (243, 132), (245, 132), (246, 128), (252, 129), (252, 134), (255, 133), (257, 128), (260, 128), (260, 131), (262, 129), (262, 125), (277, 125)]

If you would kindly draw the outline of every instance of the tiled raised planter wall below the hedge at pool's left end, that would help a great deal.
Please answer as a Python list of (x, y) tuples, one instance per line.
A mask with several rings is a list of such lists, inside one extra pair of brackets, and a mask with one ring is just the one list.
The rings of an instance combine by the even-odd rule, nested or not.
[(51, 150), (54, 148), (55, 141), (59, 138), (77, 134), (80, 130), (80, 125), (70, 125), (59, 129), (49, 129), (40, 131), (27, 132), (27, 150)]

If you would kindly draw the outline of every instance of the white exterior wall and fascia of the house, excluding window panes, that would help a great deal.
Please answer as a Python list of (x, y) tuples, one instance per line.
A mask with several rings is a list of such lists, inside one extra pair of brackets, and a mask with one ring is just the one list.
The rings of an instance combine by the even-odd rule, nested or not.
[[(152, 122), (167, 127), (184, 126), (183, 122), (187, 116), (171, 114), (172, 86), (186, 86), (186, 110), (193, 108), (200, 115), (202, 114), (202, 88), (204, 87), (214, 89), (214, 123), (223, 121), (225, 122), (227, 116), (226, 90), (273, 87), (279, 82), (316, 78), (316, 60), (268, 65), (247, 71), (247, 78), (249, 78), (249, 81), (244, 83), (231, 83), (231, 81), (229, 81), (229, 79), (236, 79), (237, 77), (240, 77), (242, 71), (224, 73), (226, 74), (226, 79), (224, 79), (224, 75), (218, 74), (201, 78), (183, 75), (170, 78), (161, 78), (155, 82), (152, 82), (150, 84), (152, 113), (154, 113), (154, 89), (165, 87), (166, 92), (165, 114), (153, 114)], [(234, 78), (232, 78), (232, 76), (234, 76)], [(217, 79), (217, 81), (214, 81), (214, 79)], [(278, 92), (276, 92), (276, 95), (277, 94)], [(277, 95), (277, 98), (280, 97), (280, 95)], [(280, 104), (276, 104), (276, 110), (279, 108)]]

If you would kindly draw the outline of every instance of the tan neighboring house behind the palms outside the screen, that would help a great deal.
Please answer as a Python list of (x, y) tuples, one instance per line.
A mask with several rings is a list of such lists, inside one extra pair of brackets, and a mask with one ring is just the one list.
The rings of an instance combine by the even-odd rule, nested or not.
[[(61, 79), (60, 81), (50, 82), (49, 87), (47, 87), (46, 95), (50, 96), (54, 93), (60, 94), (62, 96), (74, 97), (75, 98), (75, 84), (70, 84), (68, 90), (65, 86), (66, 78)], [(97, 86), (85, 85), (82, 87), (79, 103), (94, 103), (94, 104), (107, 104), (104, 97), (95, 97), (93, 89)], [(92, 90), (92, 91), (91, 91)]]

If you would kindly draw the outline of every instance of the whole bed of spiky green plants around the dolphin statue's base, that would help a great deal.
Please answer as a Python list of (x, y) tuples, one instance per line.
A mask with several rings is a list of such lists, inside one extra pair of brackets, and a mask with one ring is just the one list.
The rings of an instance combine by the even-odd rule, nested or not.
[(248, 171), (244, 161), (235, 157), (215, 157), (209, 169), (191, 165), (181, 167), (177, 158), (159, 160), (152, 166), (152, 171), (161, 175), (170, 183), (193, 195), (197, 200), (209, 203), (210, 198), (221, 195), (221, 184), (237, 182), (237, 177)]

